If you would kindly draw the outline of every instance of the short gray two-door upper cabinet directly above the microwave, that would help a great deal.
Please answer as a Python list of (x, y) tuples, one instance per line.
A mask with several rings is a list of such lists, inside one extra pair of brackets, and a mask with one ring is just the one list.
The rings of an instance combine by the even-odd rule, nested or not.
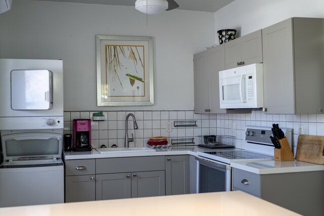
[(261, 30), (225, 43), (225, 69), (261, 63), (262, 61)]

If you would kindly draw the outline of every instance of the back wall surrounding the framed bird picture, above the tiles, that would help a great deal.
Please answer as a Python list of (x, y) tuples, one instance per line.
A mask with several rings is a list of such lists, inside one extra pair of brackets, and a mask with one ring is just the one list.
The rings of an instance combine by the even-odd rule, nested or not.
[[(193, 110), (193, 54), (215, 41), (214, 14), (148, 16), (128, 6), (14, 0), (0, 15), (2, 58), (63, 59), (64, 110)], [(154, 106), (97, 107), (95, 35), (152, 36)]]

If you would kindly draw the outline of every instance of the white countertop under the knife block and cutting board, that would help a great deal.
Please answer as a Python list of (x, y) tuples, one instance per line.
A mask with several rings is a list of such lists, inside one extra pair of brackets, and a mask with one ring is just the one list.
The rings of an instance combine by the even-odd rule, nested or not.
[(232, 162), (231, 167), (253, 172), (255, 174), (279, 174), (287, 172), (320, 171), (324, 165), (303, 161), (241, 161)]

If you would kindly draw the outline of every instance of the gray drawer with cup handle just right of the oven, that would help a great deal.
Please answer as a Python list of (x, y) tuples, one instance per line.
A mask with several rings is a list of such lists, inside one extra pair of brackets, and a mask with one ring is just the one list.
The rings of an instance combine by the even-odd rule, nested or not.
[(237, 168), (232, 170), (234, 188), (262, 197), (260, 175)]

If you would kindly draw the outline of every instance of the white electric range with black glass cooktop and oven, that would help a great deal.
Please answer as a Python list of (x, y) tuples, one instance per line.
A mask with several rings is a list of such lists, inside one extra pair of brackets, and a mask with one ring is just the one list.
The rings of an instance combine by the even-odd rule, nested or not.
[[(292, 129), (281, 128), (291, 144)], [(240, 147), (228, 150), (197, 152), (197, 193), (232, 190), (230, 163), (242, 160), (271, 160), (274, 146), (271, 127), (247, 126), (246, 136)]]

